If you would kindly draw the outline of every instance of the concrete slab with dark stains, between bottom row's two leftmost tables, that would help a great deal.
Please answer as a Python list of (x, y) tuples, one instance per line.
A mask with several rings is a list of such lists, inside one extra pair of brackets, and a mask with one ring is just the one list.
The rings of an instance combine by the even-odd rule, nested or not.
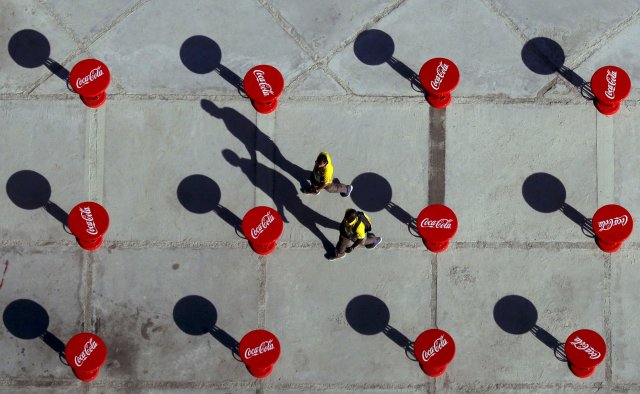
[[(244, 364), (204, 326), (214, 324), (236, 341), (258, 328), (256, 256), (248, 249), (130, 249), (96, 255), (95, 332), (109, 349), (101, 381), (252, 380)], [(180, 303), (188, 296), (198, 297)]]

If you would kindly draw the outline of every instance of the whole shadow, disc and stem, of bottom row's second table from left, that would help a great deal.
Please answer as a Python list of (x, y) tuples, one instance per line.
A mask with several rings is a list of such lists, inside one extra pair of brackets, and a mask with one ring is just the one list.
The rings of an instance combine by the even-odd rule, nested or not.
[(216, 326), (218, 311), (206, 298), (198, 295), (188, 295), (181, 298), (173, 307), (173, 321), (186, 334), (194, 336), (211, 334), (231, 351), (234, 359), (242, 361), (238, 352), (239, 342), (225, 330)]

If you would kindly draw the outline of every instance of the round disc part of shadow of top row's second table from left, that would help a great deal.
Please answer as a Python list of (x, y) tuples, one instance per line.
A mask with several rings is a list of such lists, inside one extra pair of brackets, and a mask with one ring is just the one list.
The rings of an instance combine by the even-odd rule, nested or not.
[(180, 60), (190, 71), (207, 74), (220, 66), (222, 51), (215, 41), (205, 36), (192, 36), (180, 47)]

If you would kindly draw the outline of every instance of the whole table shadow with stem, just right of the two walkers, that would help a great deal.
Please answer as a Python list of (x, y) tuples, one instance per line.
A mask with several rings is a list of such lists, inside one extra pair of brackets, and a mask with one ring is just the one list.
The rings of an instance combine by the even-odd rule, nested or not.
[(358, 208), (365, 212), (378, 212), (385, 209), (394, 218), (405, 224), (411, 235), (420, 237), (416, 218), (391, 201), (393, 190), (383, 176), (374, 172), (365, 172), (355, 177), (351, 185), (353, 186), (351, 200)]

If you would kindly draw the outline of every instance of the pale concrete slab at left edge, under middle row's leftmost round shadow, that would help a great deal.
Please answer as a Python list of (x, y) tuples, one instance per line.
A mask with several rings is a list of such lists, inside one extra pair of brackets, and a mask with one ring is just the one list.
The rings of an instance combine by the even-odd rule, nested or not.
[(63, 223), (69, 210), (86, 200), (85, 108), (68, 101), (0, 102), (8, 120), (0, 147), (4, 239), (73, 240)]

